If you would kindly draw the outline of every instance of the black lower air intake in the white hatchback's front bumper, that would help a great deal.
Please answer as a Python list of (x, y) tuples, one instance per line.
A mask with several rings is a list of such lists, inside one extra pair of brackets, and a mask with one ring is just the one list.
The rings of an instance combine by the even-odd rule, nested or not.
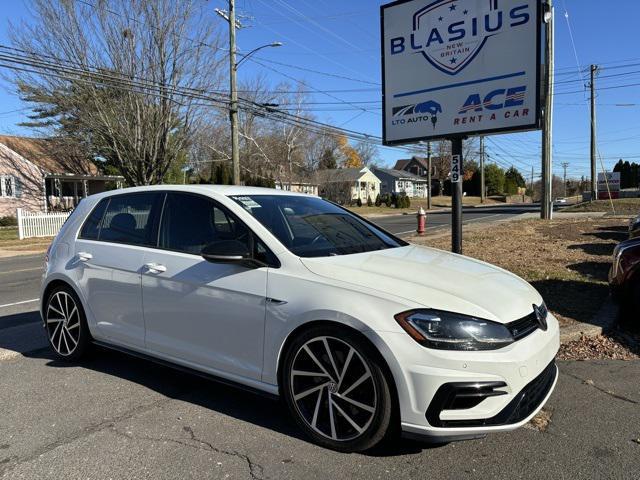
[(553, 382), (556, 380), (558, 370), (556, 369), (555, 360), (529, 382), (520, 392), (504, 407), (500, 413), (491, 418), (482, 418), (477, 420), (440, 420), (440, 412), (446, 410), (446, 406), (442, 402), (435, 405), (438, 398), (438, 392), (442, 390), (443, 385), (438, 389), (432, 404), (427, 409), (427, 420), (434, 427), (493, 427), (498, 425), (509, 425), (518, 423), (531, 415), (542, 403), (547, 396)]

